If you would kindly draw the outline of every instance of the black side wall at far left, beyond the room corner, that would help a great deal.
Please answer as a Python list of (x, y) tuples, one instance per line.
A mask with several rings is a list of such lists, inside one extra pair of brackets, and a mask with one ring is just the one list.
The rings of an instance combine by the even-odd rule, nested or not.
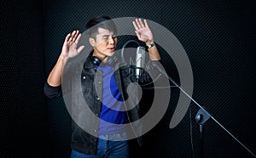
[(0, 157), (47, 157), (42, 4), (1, 1), (0, 10)]

